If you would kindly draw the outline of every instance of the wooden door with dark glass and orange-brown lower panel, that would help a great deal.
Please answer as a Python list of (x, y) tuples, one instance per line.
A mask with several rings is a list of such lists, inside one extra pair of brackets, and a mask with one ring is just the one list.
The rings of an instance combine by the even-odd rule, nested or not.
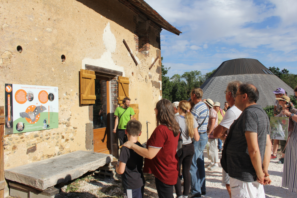
[(110, 97), (108, 78), (96, 77), (95, 79), (96, 100), (93, 104), (93, 145), (94, 152), (110, 153)]

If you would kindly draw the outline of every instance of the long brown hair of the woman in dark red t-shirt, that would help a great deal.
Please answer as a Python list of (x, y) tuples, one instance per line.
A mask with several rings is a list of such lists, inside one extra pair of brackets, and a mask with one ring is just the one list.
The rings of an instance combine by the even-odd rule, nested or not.
[(179, 134), (179, 125), (176, 121), (172, 104), (167, 99), (159, 100), (156, 104), (157, 108), (157, 126), (163, 124), (167, 126), (167, 128), (173, 132), (174, 137)]

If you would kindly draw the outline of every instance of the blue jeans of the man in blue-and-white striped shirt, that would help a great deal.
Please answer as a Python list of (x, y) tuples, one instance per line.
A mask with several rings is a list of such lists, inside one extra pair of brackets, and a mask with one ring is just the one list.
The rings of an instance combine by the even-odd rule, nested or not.
[(200, 134), (199, 141), (193, 142), (195, 153), (192, 159), (192, 165), (190, 169), (192, 194), (201, 194), (201, 191), (206, 192), (203, 150), (205, 148), (207, 141), (207, 134), (203, 133)]

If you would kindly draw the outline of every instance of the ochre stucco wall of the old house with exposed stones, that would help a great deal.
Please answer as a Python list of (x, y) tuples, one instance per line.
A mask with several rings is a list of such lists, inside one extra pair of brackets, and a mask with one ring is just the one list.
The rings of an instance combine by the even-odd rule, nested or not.
[(154, 59), (161, 57), (156, 41), (160, 29), (150, 26), (151, 46), (145, 57), (135, 48), (138, 14), (118, 0), (1, 1), (0, 19), (0, 106), (4, 106), (4, 83), (58, 86), (61, 123), (58, 129), (6, 135), (5, 168), (86, 150), (86, 126), (92, 122), (89, 106), (79, 106), (79, 71), (85, 64), (129, 77), (129, 97), (132, 104), (139, 104), (143, 125), (140, 141), (146, 141), (146, 120), (151, 122), (151, 134), (154, 107), (162, 97), (161, 61), (149, 70)]

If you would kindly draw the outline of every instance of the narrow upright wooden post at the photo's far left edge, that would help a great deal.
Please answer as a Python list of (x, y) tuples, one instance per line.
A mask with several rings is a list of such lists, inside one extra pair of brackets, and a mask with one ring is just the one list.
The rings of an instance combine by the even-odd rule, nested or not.
[(5, 126), (5, 117), (4, 117), (4, 106), (0, 107), (0, 198), (4, 197), (4, 126)]

